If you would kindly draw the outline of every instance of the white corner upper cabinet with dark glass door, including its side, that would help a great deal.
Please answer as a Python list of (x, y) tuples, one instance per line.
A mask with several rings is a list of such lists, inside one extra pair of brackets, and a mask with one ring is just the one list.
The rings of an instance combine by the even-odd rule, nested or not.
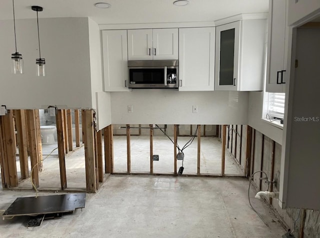
[(214, 90), (261, 91), (265, 20), (215, 28)]

